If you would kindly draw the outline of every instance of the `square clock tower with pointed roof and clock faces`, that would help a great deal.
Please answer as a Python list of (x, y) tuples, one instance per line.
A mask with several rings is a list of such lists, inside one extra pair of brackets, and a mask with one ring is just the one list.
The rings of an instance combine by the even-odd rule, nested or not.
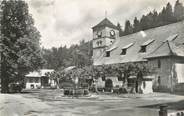
[(119, 31), (107, 18), (99, 24), (92, 27), (93, 29), (93, 60), (101, 57), (108, 46), (110, 46), (117, 37)]

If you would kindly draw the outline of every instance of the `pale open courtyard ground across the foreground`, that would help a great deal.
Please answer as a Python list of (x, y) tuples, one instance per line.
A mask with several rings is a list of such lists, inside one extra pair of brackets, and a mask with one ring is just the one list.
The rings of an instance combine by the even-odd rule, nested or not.
[(184, 96), (100, 94), (85, 98), (62, 96), (61, 90), (0, 94), (0, 116), (158, 116), (158, 106), (184, 109)]

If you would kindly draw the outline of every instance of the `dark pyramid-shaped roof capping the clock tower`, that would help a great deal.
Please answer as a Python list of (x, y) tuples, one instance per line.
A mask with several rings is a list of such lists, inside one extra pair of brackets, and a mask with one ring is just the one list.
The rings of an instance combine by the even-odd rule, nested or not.
[(98, 27), (111, 27), (117, 29), (117, 26), (114, 25), (109, 19), (105, 18), (100, 23), (92, 27), (92, 29), (98, 28)]

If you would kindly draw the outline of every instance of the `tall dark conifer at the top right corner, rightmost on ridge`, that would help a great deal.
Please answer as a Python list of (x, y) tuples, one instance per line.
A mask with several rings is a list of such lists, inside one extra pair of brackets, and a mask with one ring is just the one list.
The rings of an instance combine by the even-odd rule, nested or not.
[(179, 0), (176, 1), (174, 6), (174, 17), (176, 18), (177, 21), (184, 19), (184, 7)]

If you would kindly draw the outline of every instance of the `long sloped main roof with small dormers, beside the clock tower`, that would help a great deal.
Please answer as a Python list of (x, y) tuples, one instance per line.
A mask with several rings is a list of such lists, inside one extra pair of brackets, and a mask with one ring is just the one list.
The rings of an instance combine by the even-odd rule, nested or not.
[[(113, 44), (115, 44), (117, 48), (110, 52), (110, 57), (101, 56), (98, 59), (94, 59), (94, 65), (147, 61), (147, 59), (145, 58), (150, 55), (150, 53), (153, 53), (169, 37), (176, 34), (177, 37), (171, 39), (172, 42), (176, 43), (176, 45), (178, 45), (178, 43), (184, 43), (184, 21), (116, 38)], [(148, 40), (154, 41), (147, 45), (145, 53), (139, 52), (141, 45)], [(172, 42), (170, 42), (170, 44), (172, 44)], [(134, 43), (134, 45), (127, 49), (126, 55), (120, 55), (122, 48), (130, 43)], [(164, 44), (163, 46), (166, 45)], [(172, 45), (170, 46), (172, 47)], [(177, 47), (173, 47), (172, 52), (181, 55), (181, 50), (179, 50), (179, 48), (176, 48)], [(165, 49), (165, 47), (163, 47), (163, 50), (161, 51), (163, 53), (167, 52), (169, 54), (168, 49)]]

